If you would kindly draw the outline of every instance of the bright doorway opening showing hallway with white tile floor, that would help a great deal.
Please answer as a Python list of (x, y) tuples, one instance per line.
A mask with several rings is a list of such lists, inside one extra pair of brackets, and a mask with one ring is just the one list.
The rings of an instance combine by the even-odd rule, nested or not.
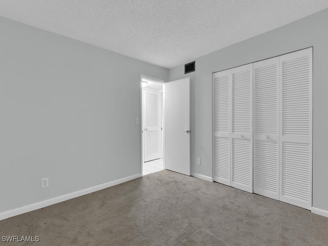
[(141, 75), (142, 176), (164, 167), (163, 90), (164, 81)]

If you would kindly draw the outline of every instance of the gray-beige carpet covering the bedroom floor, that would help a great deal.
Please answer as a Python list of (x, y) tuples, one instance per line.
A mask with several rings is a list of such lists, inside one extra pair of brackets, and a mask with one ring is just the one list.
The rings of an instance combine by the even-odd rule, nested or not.
[[(0, 245), (328, 245), (328, 218), (161, 171), (0, 221)], [(1, 239), (0, 238), (0, 239)]]

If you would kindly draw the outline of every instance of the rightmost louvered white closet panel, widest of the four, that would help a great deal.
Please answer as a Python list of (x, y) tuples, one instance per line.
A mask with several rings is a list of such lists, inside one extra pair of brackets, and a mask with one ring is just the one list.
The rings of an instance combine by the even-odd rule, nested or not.
[(280, 56), (280, 200), (312, 207), (312, 48)]

